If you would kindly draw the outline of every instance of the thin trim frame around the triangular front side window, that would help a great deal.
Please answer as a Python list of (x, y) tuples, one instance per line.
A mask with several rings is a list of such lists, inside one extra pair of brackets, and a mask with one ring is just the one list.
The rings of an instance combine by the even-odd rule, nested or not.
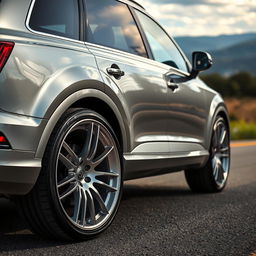
[[(177, 68), (171, 67), (171, 66), (170, 66), (170, 68), (173, 68), (173, 69), (175, 69), (175, 70), (178, 70), (178, 71), (180, 71), (180, 72), (182, 72), (182, 73), (184, 73), (184, 74), (186, 74), (186, 75), (189, 74), (189, 73), (192, 71), (191, 63), (189, 62), (188, 58), (186, 57), (186, 55), (184, 54), (184, 52), (181, 50), (181, 48), (179, 47), (179, 45), (178, 45), (178, 44), (175, 42), (175, 40), (167, 33), (167, 31), (163, 28), (163, 26), (162, 26), (159, 22), (157, 22), (152, 16), (150, 16), (148, 13), (146, 13), (146, 12), (140, 10), (140, 9), (137, 9), (137, 8), (135, 8), (135, 7), (131, 7), (131, 8), (133, 9), (132, 12), (134, 13), (134, 16), (136, 17), (136, 20), (137, 20), (138, 23), (140, 24), (139, 28), (141, 29), (141, 33), (143, 33), (143, 37), (145, 37), (145, 40), (146, 40), (146, 42), (147, 42), (146, 45), (147, 45), (147, 47), (149, 48), (148, 50), (149, 50), (150, 53), (151, 53), (151, 54), (150, 54), (150, 55), (151, 55), (151, 59), (154, 60), (154, 61), (156, 61), (156, 62), (158, 62), (158, 63), (161, 63), (161, 62), (159, 62), (159, 61), (157, 61), (157, 60), (154, 59), (151, 46), (150, 46), (150, 44), (149, 44), (149, 42), (148, 42), (148, 39), (147, 39), (147, 37), (146, 37), (146, 34), (145, 34), (143, 28), (142, 28), (141, 22), (140, 22), (140, 20), (139, 20), (137, 14), (136, 14), (136, 11), (141, 12), (142, 14), (144, 14), (145, 16), (147, 16), (149, 19), (151, 19), (154, 23), (156, 23), (156, 24), (162, 29), (162, 31), (163, 31), (163, 32), (167, 35), (167, 37), (171, 40), (171, 42), (174, 44), (174, 46), (176, 47), (176, 49), (177, 49), (178, 52), (180, 53), (181, 57), (183, 58), (183, 60), (184, 60), (184, 62), (185, 62), (185, 64), (186, 64), (186, 67), (187, 67), (187, 71), (181, 70), (181, 69), (177, 69)], [(136, 11), (135, 11), (135, 10), (136, 10)], [(161, 63), (161, 64), (166, 65), (166, 64), (164, 64), (164, 63)]]

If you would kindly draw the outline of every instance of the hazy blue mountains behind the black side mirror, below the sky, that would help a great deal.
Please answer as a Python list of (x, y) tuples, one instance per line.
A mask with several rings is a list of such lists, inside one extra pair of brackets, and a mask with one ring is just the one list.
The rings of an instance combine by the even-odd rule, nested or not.
[(256, 33), (221, 35), (216, 37), (177, 37), (175, 40), (191, 58), (193, 51), (207, 51), (213, 57), (213, 67), (206, 73), (232, 75), (247, 71), (256, 75)]

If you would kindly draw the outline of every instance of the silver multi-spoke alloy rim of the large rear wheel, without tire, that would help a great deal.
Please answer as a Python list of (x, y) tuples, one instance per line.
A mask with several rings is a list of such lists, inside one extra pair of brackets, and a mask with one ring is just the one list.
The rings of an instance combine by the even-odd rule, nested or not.
[(56, 162), (59, 203), (68, 220), (94, 231), (112, 216), (121, 186), (118, 148), (96, 120), (73, 125), (62, 140)]

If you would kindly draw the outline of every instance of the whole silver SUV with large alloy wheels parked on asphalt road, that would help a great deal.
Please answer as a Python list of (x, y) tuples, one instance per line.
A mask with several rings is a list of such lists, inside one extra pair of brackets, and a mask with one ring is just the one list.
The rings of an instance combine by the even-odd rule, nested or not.
[(0, 193), (34, 232), (81, 240), (110, 225), (124, 180), (184, 170), (193, 191), (223, 190), (211, 64), (131, 0), (0, 0)]

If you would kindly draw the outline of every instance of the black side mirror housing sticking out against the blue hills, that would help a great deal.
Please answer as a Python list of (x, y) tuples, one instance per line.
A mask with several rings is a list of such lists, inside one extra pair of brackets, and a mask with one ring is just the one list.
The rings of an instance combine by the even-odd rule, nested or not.
[(212, 66), (212, 57), (207, 52), (193, 52), (193, 71), (197, 74), (201, 71), (207, 70)]

